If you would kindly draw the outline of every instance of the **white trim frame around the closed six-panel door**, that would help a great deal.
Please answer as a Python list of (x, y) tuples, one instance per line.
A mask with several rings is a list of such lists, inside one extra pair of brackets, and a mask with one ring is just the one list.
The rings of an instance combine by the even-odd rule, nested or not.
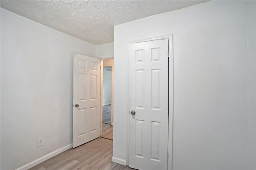
[[(152, 37), (152, 38), (145, 38), (145, 39), (140, 39), (140, 40), (135, 40), (135, 41), (130, 41), (128, 42), (127, 45), (127, 50), (128, 50), (128, 61), (129, 61), (129, 45), (132, 43), (140, 43), (140, 42), (148, 42), (148, 41), (153, 41), (153, 40), (163, 40), (163, 39), (168, 39), (169, 43), (169, 129), (168, 129), (168, 170), (172, 170), (172, 138), (173, 138), (173, 34), (168, 34), (164, 36), (157, 36), (157, 37)], [(128, 67), (129, 67), (129, 62), (127, 62)], [(128, 72), (129, 74), (129, 72)], [(130, 77), (130, 75), (128, 75)], [(129, 84), (129, 79), (128, 79), (128, 84)], [(129, 87), (128, 87), (128, 94), (129, 94)], [(128, 106), (130, 105), (129, 103), (129, 95), (128, 95)], [(129, 107), (127, 111), (127, 156), (126, 156), (126, 166), (129, 166)]]

